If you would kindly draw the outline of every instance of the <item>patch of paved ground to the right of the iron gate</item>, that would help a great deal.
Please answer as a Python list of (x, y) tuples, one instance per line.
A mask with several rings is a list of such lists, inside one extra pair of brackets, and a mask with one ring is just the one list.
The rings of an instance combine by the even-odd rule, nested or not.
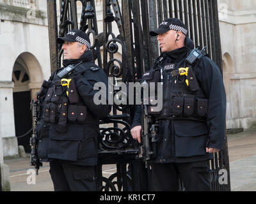
[(232, 191), (256, 191), (256, 128), (228, 135)]

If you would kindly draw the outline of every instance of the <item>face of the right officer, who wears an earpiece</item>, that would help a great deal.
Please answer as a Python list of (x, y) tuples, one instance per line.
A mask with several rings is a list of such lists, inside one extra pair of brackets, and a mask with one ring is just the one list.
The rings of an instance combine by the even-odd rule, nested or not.
[(159, 45), (162, 52), (170, 52), (172, 50), (177, 49), (176, 40), (177, 32), (170, 30), (163, 34), (159, 34), (157, 36), (157, 40), (159, 41)]

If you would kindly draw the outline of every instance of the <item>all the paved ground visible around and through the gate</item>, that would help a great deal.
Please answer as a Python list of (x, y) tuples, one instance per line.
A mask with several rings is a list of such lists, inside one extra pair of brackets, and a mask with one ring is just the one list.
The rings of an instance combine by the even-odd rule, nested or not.
[[(232, 191), (256, 191), (256, 128), (228, 135), (227, 138)], [(49, 163), (43, 164), (35, 180), (29, 158), (6, 159), (4, 163), (10, 168), (12, 191), (53, 191)], [(104, 165), (102, 171), (104, 177), (109, 177), (116, 168)]]

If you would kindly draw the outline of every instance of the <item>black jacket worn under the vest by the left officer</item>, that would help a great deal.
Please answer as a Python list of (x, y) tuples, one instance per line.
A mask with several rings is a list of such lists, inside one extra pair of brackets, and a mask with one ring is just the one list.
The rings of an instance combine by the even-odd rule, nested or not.
[[(39, 140), (38, 157), (40, 157), (42, 161), (61, 159), (68, 163), (84, 166), (97, 164), (99, 119), (109, 114), (111, 106), (95, 105), (93, 96), (98, 91), (93, 90), (93, 86), (97, 82), (103, 82), (108, 91), (108, 77), (102, 69), (93, 64), (91, 51), (85, 52), (77, 60), (65, 60), (63, 61), (63, 65), (68, 66), (68, 64), (77, 64), (81, 61), (83, 62), (79, 64), (72, 73), (72, 80), (76, 80), (79, 103), (73, 105), (75, 107), (74, 111), (72, 110), (71, 112), (70, 109), (68, 109), (67, 131), (58, 131), (58, 122), (45, 122), (46, 103), (45, 99), (43, 100), (42, 117), (36, 127)], [(60, 80), (57, 76), (57, 73), (60, 71), (61, 70), (57, 70), (50, 77), (50, 87), (54, 82)], [(102, 96), (104, 96), (104, 94), (102, 94)], [(78, 120), (76, 119), (70, 122), (70, 117), (74, 115), (77, 115), (77, 118), (79, 117), (79, 107), (81, 106), (86, 106), (86, 110), (84, 111), (84, 113), (86, 113), (85, 122), (80, 123), (77, 122)], [(71, 105), (69, 104), (68, 107), (71, 107)]]

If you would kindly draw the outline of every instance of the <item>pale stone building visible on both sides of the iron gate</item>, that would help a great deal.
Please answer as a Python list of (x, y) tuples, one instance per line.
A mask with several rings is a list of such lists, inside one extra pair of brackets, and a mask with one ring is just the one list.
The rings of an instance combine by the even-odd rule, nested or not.
[[(102, 0), (95, 3), (100, 33)], [(256, 1), (218, 0), (218, 4), (227, 128), (250, 128), (256, 124)], [(22, 141), (17, 136), (26, 133), (22, 123), (25, 117), (31, 126), (28, 101), (35, 98), (42, 81), (49, 78), (51, 68), (45, 0), (0, 0), (0, 20), (0, 162), (3, 163), (3, 157), (18, 156), (17, 147)]]

